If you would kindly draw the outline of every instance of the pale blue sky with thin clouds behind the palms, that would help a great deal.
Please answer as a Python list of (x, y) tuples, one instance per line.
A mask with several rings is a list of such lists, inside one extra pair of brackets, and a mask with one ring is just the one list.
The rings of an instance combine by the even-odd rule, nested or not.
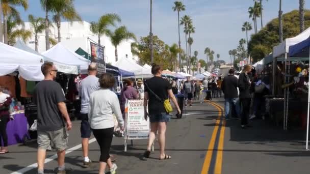
[[(153, 0), (153, 34), (169, 45), (178, 42), (177, 13), (172, 11), (175, 0)], [(205, 59), (205, 47), (210, 47), (221, 55), (220, 59), (230, 62), (229, 49), (238, 46), (241, 38), (246, 38), (241, 31), (248, 18), (248, 8), (252, 0), (180, 0), (186, 5), (186, 11), (192, 17), (196, 33), (193, 34), (192, 51), (199, 52), (198, 58)], [(40, 1), (29, 0), (29, 9), (20, 10), (22, 18), (27, 21), (28, 15), (44, 17)], [(266, 24), (278, 16), (278, 0), (263, 0), (263, 22)], [(135, 33), (138, 38), (149, 34), (149, 1), (148, 0), (75, 0), (77, 12), (83, 20), (96, 21), (105, 13), (117, 13), (122, 18), (122, 25)], [(284, 13), (298, 9), (298, 0), (282, 0)], [(310, 4), (306, 2), (306, 9)], [(259, 29), (260, 29), (259, 25)], [(183, 31), (183, 28), (182, 28)], [(253, 31), (252, 31), (253, 32)], [(250, 34), (252, 33), (250, 32)], [(185, 35), (181, 35), (182, 47), (185, 48)]]

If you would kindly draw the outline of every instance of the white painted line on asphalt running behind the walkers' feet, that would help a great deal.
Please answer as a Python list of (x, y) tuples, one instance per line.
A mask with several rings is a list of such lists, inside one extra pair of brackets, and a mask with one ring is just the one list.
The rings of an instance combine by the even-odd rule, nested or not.
[[(95, 138), (92, 138), (92, 139), (89, 140), (89, 144), (92, 143), (92, 142), (95, 142), (95, 141), (96, 141), (96, 139), (95, 139)], [(69, 153), (71, 153), (71, 152), (73, 152), (73, 151), (76, 151), (76, 150), (78, 150), (78, 149), (81, 149), (81, 148), (82, 148), (82, 144), (76, 145), (76, 146), (74, 146), (74, 147), (72, 147), (72, 148), (66, 150), (66, 154), (69, 154)], [(46, 164), (46, 163), (48, 163), (48, 162), (50, 162), (50, 161), (53, 161), (53, 160), (55, 160), (56, 158), (57, 158), (57, 154), (55, 154), (55, 155), (53, 155), (53, 156), (50, 156), (50, 157), (48, 157), (48, 158), (45, 159), (44, 164)], [(19, 169), (18, 171), (14, 171), (14, 172), (12, 172), (11, 174), (22, 174), (22, 173), (24, 173), (24, 172), (27, 172), (27, 171), (32, 170), (32, 169), (37, 168), (37, 167), (38, 167), (38, 163), (33, 163), (33, 164), (31, 164), (31, 165), (29, 165), (29, 166), (27, 166), (27, 167), (24, 167), (24, 168), (22, 168), (22, 169)]]

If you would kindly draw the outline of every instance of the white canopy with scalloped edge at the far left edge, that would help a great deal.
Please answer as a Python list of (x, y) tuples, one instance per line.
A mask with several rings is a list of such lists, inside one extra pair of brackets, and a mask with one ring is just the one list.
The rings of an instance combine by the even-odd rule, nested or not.
[(0, 76), (18, 71), (20, 76), (29, 81), (41, 81), (43, 57), (4, 43), (0, 43)]

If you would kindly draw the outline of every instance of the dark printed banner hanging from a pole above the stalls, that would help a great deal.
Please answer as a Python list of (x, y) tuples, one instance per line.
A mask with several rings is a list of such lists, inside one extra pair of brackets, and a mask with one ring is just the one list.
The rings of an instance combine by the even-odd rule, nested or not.
[(91, 62), (94, 62), (98, 66), (98, 73), (106, 72), (105, 67), (105, 51), (104, 47), (96, 43), (90, 42)]

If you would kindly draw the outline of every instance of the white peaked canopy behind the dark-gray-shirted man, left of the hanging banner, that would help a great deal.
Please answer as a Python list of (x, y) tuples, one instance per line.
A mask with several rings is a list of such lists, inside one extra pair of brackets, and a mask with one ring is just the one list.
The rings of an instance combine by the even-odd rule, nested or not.
[[(89, 61), (79, 54), (66, 48), (61, 42), (42, 53), (48, 57), (48, 61), (59, 62), (65, 65), (80, 67), (81, 71), (86, 71)], [(46, 60), (45, 60), (46, 61)]]

